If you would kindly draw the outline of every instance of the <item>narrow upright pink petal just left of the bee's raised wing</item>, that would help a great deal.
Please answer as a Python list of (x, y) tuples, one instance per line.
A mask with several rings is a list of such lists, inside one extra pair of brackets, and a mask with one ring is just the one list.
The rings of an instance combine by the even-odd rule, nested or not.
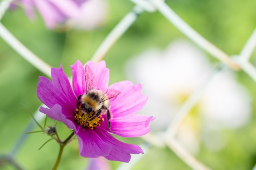
[(74, 65), (71, 65), (71, 70), (73, 74), (73, 89), (76, 97), (83, 95), (85, 93), (86, 84), (85, 84), (85, 69), (83, 64), (77, 60)]

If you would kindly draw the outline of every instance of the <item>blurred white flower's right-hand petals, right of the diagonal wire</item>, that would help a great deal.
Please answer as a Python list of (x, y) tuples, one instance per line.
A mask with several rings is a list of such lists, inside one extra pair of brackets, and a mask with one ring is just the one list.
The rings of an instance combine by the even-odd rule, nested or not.
[(200, 108), (209, 128), (239, 128), (250, 118), (247, 91), (234, 74), (223, 71), (205, 91)]

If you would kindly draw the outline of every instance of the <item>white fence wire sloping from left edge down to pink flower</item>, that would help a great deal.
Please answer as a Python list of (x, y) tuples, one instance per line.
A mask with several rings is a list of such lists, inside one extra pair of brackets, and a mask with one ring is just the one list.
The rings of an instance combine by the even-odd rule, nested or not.
[(36, 67), (39, 71), (51, 77), (51, 66), (41, 60), (38, 56), (32, 53), (27, 47), (17, 40), (3, 25), (0, 23), (0, 36), (7, 42), (17, 53), (25, 60)]

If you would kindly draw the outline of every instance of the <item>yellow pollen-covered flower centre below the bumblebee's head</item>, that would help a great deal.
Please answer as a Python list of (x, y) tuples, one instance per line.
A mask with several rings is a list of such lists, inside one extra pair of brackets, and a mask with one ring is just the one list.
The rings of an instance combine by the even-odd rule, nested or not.
[(101, 115), (99, 117), (96, 117), (95, 115), (96, 113), (94, 112), (83, 113), (81, 106), (79, 106), (79, 108), (76, 109), (75, 118), (77, 120), (77, 124), (93, 129), (96, 126), (100, 126), (101, 121), (104, 121), (104, 119), (101, 119)]

